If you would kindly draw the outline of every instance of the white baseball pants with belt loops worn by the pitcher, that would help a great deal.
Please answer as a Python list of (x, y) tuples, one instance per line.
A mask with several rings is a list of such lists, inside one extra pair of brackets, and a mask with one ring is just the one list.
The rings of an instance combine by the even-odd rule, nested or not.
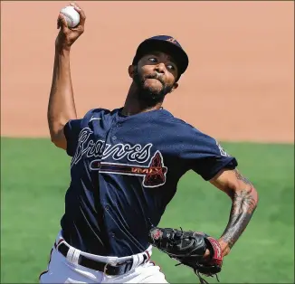
[[(57, 251), (57, 246), (62, 242), (70, 247), (67, 257)], [(147, 253), (148, 258), (143, 264), (140, 264), (144, 260), (144, 253)], [(109, 276), (104, 272), (79, 265), (77, 260), (80, 254), (92, 260), (111, 262), (112, 264), (133, 259), (133, 266), (123, 275)], [(152, 247), (150, 246), (145, 252), (124, 258), (94, 255), (71, 247), (62, 239), (60, 232), (52, 246), (47, 270), (40, 275), (39, 281), (40, 283), (168, 283), (160, 268), (149, 260), (151, 254)]]

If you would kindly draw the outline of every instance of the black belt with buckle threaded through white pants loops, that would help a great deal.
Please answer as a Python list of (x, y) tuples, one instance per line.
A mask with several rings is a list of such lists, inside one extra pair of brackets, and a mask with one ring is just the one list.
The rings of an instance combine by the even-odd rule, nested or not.
[[(67, 257), (70, 248), (63, 242), (58, 245), (57, 250), (62, 253), (64, 257)], [(147, 255), (144, 254), (144, 263), (147, 260)], [(107, 275), (123, 275), (131, 270), (133, 265), (133, 260), (126, 260), (119, 264), (110, 264), (107, 262), (100, 262), (98, 260), (91, 260), (83, 255), (79, 256), (78, 264), (89, 268), (91, 270), (99, 270)]]

